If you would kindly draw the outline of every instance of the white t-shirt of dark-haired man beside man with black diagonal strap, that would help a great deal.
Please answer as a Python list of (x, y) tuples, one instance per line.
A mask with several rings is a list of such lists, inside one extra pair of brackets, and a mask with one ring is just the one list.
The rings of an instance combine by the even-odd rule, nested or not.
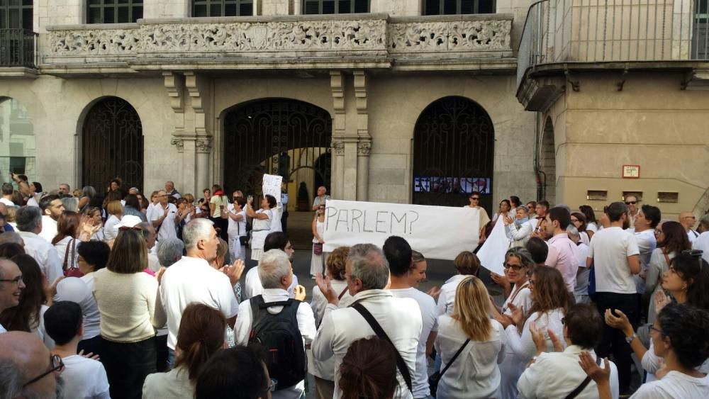
[(430, 388), (428, 386), (428, 362), (426, 361), (426, 341), (432, 331), (438, 331), (438, 317), (436, 314), (436, 303), (427, 293), (423, 293), (416, 288), (409, 287), (398, 290), (389, 290), (394, 298), (412, 298), (418, 303), (423, 320), (421, 336), (416, 349), (416, 374), (411, 376), (413, 383), (414, 398), (428, 398)]

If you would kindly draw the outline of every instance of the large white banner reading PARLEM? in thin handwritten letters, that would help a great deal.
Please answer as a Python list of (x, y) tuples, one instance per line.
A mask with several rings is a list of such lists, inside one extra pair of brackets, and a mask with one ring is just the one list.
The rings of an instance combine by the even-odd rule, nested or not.
[(381, 247), (391, 235), (430, 259), (454, 259), (477, 246), (477, 213), (469, 208), (330, 200), (325, 206), (325, 252), (371, 243)]

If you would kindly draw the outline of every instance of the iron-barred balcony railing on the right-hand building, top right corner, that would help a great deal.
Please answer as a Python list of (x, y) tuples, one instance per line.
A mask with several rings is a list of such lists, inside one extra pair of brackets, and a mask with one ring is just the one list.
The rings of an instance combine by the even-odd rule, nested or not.
[(527, 69), (570, 62), (709, 60), (709, 0), (542, 0), (518, 48)]

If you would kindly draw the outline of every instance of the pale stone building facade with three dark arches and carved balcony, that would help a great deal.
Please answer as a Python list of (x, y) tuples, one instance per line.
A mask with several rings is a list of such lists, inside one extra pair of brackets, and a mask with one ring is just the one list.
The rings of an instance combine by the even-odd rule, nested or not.
[(131, 1), (121, 14), (25, 0), (24, 20), (0, 25), (11, 50), (0, 99), (23, 110), (0, 118), (33, 134), (27, 150), (0, 154), (5, 169), (50, 189), (121, 176), (146, 191), (167, 179), (183, 193), (259, 191), (265, 172), (284, 174), (291, 198), (305, 182), (310, 201), (320, 184), (335, 198), (448, 205), (477, 184), (489, 210), (535, 198), (535, 116), (514, 96), (531, 1), (353, 1), (369, 12), (325, 13), (350, 1), (313, 0), (312, 15), (311, 0), (217, 0), (220, 15), (242, 3), (252, 15), (207, 18), (192, 16), (205, 0)]

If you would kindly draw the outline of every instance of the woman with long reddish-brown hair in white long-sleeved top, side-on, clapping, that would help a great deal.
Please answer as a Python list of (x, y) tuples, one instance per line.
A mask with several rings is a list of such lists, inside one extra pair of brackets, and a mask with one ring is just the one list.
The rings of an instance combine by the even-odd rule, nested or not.
[[(537, 330), (546, 332), (551, 329), (557, 337), (562, 337), (564, 326), (562, 319), (571, 303), (571, 294), (566, 290), (562, 274), (551, 267), (537, 267), (530, 278), (530, 292), (532, 296), (532, 309), (530, 315), (525, 317), (527, 309), (510, 304), (512, 309), (511, 319), (513, 324), (506, 325), (508, 342), (515, 359), (525, 365), (537, 353), (530, 325), (534, 323)], [(547, 336), (547, 348), (552, 351), (552, 340)]]

